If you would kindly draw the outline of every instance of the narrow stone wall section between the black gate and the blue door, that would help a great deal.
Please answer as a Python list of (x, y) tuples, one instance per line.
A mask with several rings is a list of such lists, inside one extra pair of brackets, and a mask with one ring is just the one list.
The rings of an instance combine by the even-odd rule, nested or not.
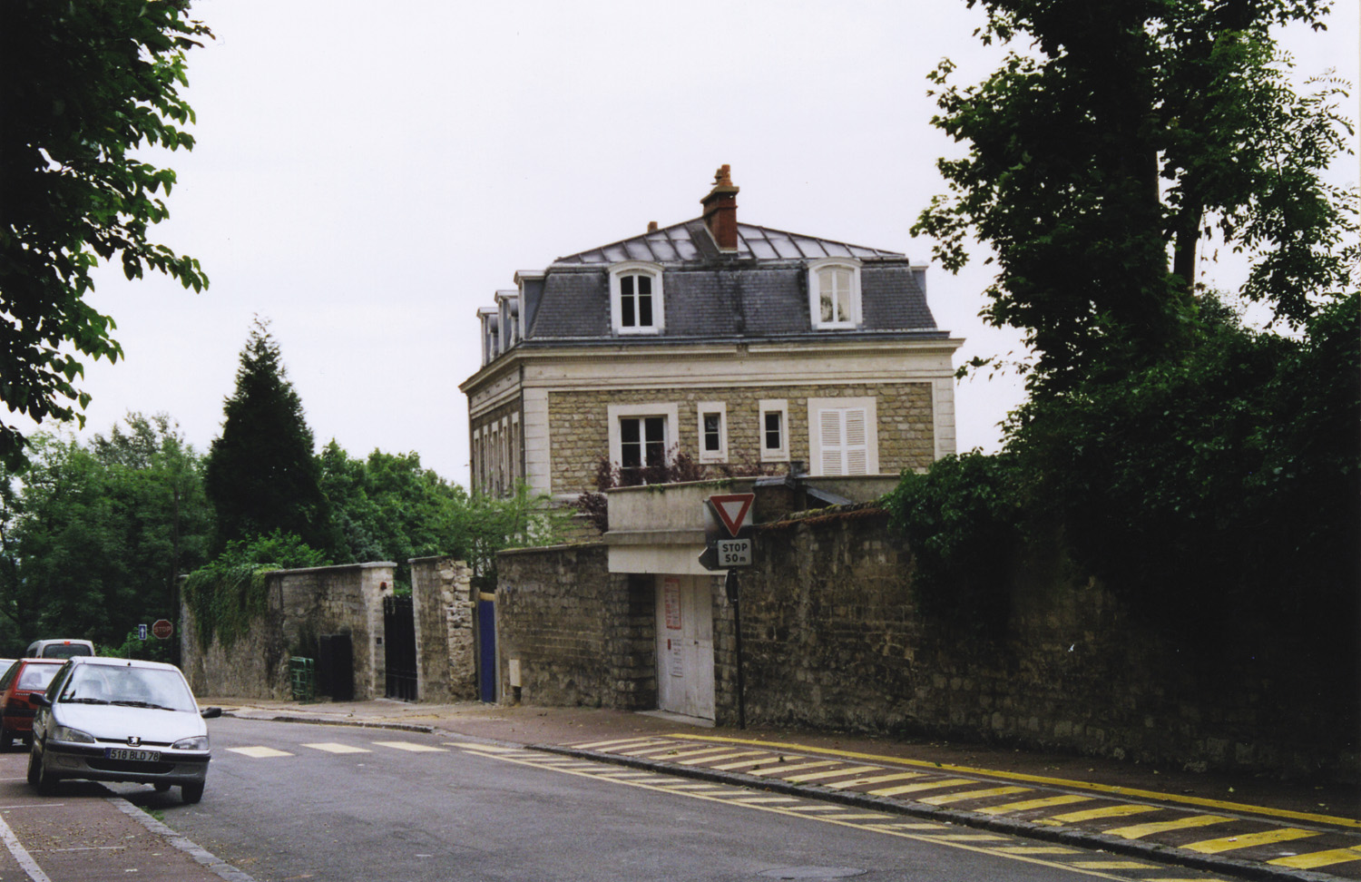
[(472, 569), (450, 557), (411, 561), (416, 625), (416, 696), (449, 702), (478, 698)]

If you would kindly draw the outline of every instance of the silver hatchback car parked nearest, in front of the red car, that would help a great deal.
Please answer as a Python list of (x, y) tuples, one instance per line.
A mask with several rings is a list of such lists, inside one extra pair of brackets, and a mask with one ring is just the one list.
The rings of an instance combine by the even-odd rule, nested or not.
[(222, 709), (200, 710), (176, 666), (76, 656), (31, 702), (29, 784), (39, 794), (86, 779), (178, 785), (186, 803), (203, 799), (211, 758), (204, 720)]

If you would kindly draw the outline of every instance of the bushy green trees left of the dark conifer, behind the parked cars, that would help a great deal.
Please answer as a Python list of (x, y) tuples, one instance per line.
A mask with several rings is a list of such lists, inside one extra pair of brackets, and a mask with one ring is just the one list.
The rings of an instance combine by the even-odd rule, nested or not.
[(206, 557), (200, 460), (165, 416), (127, 416), (88, 445), (34, 436), (23, 480), (0, 475), (0, 614), (39, 637), (117, 645), (176, 618), (176, 584)]

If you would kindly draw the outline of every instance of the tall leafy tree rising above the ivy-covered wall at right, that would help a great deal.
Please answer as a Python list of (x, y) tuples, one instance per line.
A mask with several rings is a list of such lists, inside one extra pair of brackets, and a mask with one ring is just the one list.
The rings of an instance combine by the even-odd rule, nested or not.
[(991, 246), (983, 316), (1026, 332), (1033, 392), (1176, 358), (1211, 234), (1252, 259), (1241, 293), (1292, 327), (1350, 282), (1356, 197), (1322, 177), (1351, 135), (1343, 93), (1297, 95), (1270, 34), (1323, 27), (1323, 0), (974, 3), (985, 42), (1033, 52), (979, 86), (949, 86), (949, 60), (932, 75), (932, 122), (969, 152), (938, 162), (950, 193), (913, 233), (949, 270), (970, 234)]

